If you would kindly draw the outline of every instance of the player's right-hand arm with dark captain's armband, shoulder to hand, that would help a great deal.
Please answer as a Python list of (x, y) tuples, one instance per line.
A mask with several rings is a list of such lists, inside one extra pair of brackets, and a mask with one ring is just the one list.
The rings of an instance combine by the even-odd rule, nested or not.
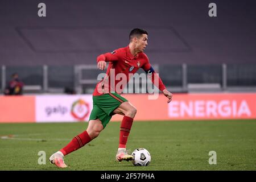
[[(150, 74), (151, 75), (151, 81), (152, 83), (155, 85), (155, 86), (158, 86), (158, 89), (162, 91), (162, 93), (164, 94), (164, 96), (166, 96), (168, 98), (168, 101), (167, 103), (171, 102), (172, 100), (172, 93), (169, 92), (167, 89), (166, 89), (166, 86), (163, 84), (163, 81), (161, 80), (161, 78), (159, 77), (159, 74), (156, 73), (154, 71), (154, 68), (151, 66), (151, 64), (149, 63), (148, 61), (148, 58), (146, 57), (147, 61), (146, 61), (146, 64), (144, 64), (142, 66), (142, 69), (144, 69), (144, 71), (147, 73), (147, 74)], [(155, 84), (155, 80), (158, 80), (158, 84)]]

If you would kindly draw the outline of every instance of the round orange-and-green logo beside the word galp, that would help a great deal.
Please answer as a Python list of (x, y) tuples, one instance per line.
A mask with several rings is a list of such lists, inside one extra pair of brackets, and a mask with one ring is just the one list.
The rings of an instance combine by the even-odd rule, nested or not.
[(80, 121), (84, 120), (88, 116), (89, 111), (89, 104), (81, 99), (75, 101), (71, 107), (71, 115)]

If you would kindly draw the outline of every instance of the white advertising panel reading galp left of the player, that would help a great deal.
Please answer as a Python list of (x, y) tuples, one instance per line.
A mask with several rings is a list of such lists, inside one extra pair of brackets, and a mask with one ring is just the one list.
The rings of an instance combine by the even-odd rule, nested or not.
[(36, 122), (88, 121), (92, 111), (92, 95), (36, 96)]

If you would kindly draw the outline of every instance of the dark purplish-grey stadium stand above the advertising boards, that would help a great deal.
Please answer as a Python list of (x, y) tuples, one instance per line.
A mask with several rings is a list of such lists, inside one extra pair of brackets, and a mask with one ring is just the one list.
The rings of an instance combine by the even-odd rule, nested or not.
[(175, 92), (254, 89), (254, 1), (214, 2), (216, 18), (208, 16), (209, 2), (200, 0), (46, 0), (47, 16), (40, 18), (36, 3), (1, 1), (1, 90), (15, 71), (26, 84), (24, 93), (90, 93), (99, 73), (93, 68), (97, 55), (127, 46), (134, 27), (148, 31), (146, 53)]

